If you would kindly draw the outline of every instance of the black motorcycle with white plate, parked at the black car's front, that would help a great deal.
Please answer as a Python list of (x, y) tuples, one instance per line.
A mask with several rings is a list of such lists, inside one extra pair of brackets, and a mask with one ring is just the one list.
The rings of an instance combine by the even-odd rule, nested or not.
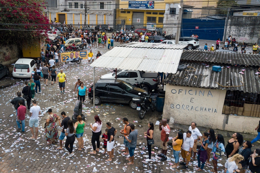
[[(152, 90), (154, 91), (154, 90)], [(138, 93), (141, 94), (141, 93)], [(133, 103), (136, 103), (137, 108), (136, 110), (138, 110), (138, 117), (140, 119), (144, 119), (145, 117), (145, 113), (152, 111), (153, 112), (153, 103), (152, 103), (152, 98), (151, 98), (151, 93), (149, 95), (146, 96), (142, 96), (142, 97), (133, 97), (132, 98)]]

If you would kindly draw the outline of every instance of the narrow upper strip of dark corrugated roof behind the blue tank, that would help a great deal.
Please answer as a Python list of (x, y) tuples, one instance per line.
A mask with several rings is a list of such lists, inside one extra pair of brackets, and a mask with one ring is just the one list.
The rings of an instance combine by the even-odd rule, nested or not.
[(181, 55), (181, 60), (213, 62), (232, 65), (260, 66), (260, 55), (228, 52), (211, 52), (203, 50), (187, 50)]

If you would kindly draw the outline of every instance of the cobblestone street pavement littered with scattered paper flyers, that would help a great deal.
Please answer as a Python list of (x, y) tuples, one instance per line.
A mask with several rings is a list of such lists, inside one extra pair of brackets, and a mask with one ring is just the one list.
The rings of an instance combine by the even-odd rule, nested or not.
[[(117, 43), (116, 43), (117, 44)], [(94, 49), (94, 55), (98, 49)], [(99, 49), (101, 51), (105, 49)], [(108, 50), (108, 49), (106, 49)], [(105, 51), (104, 51), (105, 52)], [(104, 52), (101, 52), (103, 54)], [(62, 68), (63, 72), (67, 75), (68, 83), (66, 83), (65, 94), (60, 94), (58, 85), (43, 85), (41, 81), (41, 94), (36, 94), (35, 99), (37, 104), (41, 107), (40, 123), (38, 139), (33, 141), (29, 140), (31, 132), (28, 127), (29, 125), (29, 111), (27, 111), (25, 119), (25, 134), (17, 132), (15, 109), (10, 103), (13, 97), (16, 97), (16, 92), (21, 91), (24, 86), (24, 80), (16, 82), (16, 84), (6, 87), (0, 90), (2, 100), (0, 102), (0, 172), (196, 172), (193, 162), (189, 166), (189, 170), (180, 170), (180, 168), (173, 169), (171, 165), (174, 163), (174, 157), (172, 147), (168, 149), (168, 160), (161, 162), (156, 156), (160, 153), (160, 131), (158, 125), (155, 125), (154, 139), (155, 144), (152, 146), (152, 159), (153, 162), (145, 162), (146, 156), (148, 155), (146, 147), (146, 139), (143, 133), (147, 131), (147, 123), (155, 123), (161, 119), (161, 113), (147, 112), (144, 119), (138, 118), (138, 112), (133, 110), (127, 104), (114, 104), (114, 103), (102, 103), (96, 107), (96, 112), (92, 113), (93, 105), (89, 102), (89, 99), (84, 103), (83, 114), (86, 116), (86, 128), (84, 129), (84, 145), (83, 151), (75, 150), (77, 148), (77, 141), (74, 143), (75, 155), (71, 158), (66, 153), (67, 150), (64, 148), (62, 151), (56, 150), (59, 143), (47, 145), (46, 138), (44, 135), (43, 125), (45, 123), (47, 113), (46, 110), (49, 108), (53, 109), (53, 112), (60, 115), (62, 111), (65, 111), (68, 116), (72, 116), (74, 102), (76, 100), (76, 93), (73, 92), (75, 82), (77, 78), (81, 78), (85, 86), (89, 86), (93, 83), (93, 70), (86, 60), (83, 60), (80, 64), (69, 63), (68, 65), (63, 64), (58, 69)], [(96, 68), (95, 77), (96, 80), (101, 75), (111, 72), (109, 69)], [(153, 97), (156, 95), (154, 94)], [(102, 152), (96, 155), (91, 155), (89, 152), (92, 150), (91, 147), (91, 135), (90, 123), (93, 122), (94, 115), (99, 115), (103, 122), (102, 132), (105, 132), (105, 123), (112, 122), (112, 126), (118, 131), (123, 129), (122, 118), (127, 117), (130, 123), (136, 125), (138, 130), (137, 147), (135, 150), (135, 164), (127, 165), (125, 160), (126, 156), (122, 155), (121, 149), (123, 149), (123, 135), (118, 132), (115, 136), (115, 155), (113, 162), (106, 162), (107, 157), (102, 155)], [(137, 122), (133, 122), (137, 121)], [(34, 129), (35, 130), (35, 129)], [(59, 128), (59, 134), (61, 128)], [(171, 129), (170, 137), (175, 137), (178, 129)], [(100, 138), (101, 139), (101, 138)], [(102, 141), (102, 139), (101, 139)], [(64, 147), (65, 139), (63, 140)], [(101, 148), (103, 143), (101, 143)], [(158, 148), (159, 147), (159, 148)], [(224, 165), (225, 157), (219, 162)], [(208, 165), (204, 167), (205, 171), (209, 171)], [(223, 167), (219, 167), (219, 171), (223, 172)]]

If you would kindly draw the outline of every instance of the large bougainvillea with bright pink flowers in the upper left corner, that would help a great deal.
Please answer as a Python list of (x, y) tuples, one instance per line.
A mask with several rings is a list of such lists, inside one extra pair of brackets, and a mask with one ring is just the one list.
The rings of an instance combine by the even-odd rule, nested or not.
[(43, 1), (0, 0), (0, 43), (30, 46), (46, 39), (50, 25), (43, 9)]

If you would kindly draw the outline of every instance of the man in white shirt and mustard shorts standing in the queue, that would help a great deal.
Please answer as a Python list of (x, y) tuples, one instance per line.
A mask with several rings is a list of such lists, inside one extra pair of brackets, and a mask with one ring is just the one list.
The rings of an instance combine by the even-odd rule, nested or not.
[(194, 139), (191, 137), (191, 131), (188, 130), (187, 133), (183, 134), (183, 144), (181, 145), (181, 157), (183, 158), (183, 162), (180, 162), (180, 165), (183, 165), (181, 169), (188, 169), (193, 143)]

